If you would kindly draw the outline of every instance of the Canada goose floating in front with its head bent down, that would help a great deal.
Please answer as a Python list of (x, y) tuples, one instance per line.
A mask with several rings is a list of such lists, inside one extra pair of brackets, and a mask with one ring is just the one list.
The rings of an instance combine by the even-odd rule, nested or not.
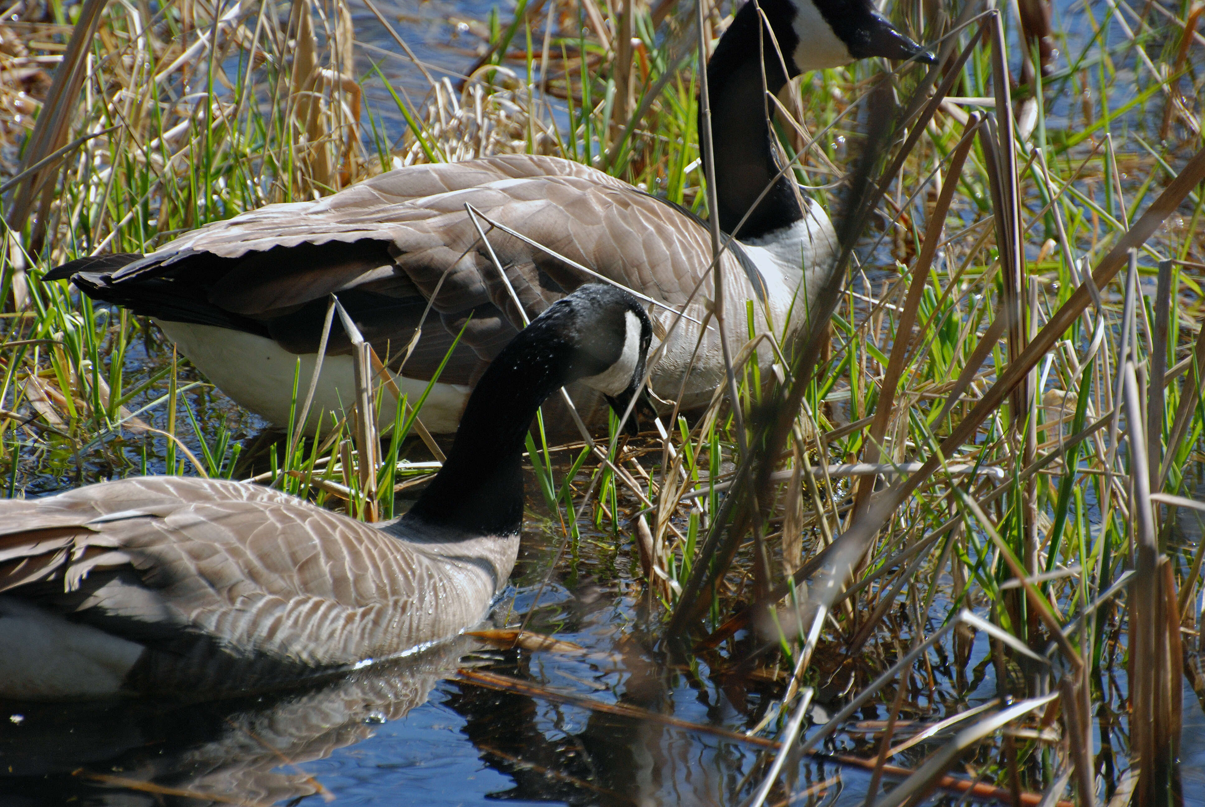
[(651, 339), (613, 286), (556, 302), (490, 363), (443, 467), (380, 528), (213, 479), (0, 501), (0, 697), (266, 688), (476, 624), (515, 565), (536, 408), (575, 380), (627, 405)]

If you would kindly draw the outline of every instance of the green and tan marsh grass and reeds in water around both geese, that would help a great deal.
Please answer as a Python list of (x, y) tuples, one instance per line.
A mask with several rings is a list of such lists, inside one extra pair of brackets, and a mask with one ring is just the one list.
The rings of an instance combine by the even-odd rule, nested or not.
[[(366, 6), (52, 0), (0, 18), (7, 496), (202, 474), (384, 519), (437, 467), (421, 399), (365, 390), (396, 413), (380, 434), (351, 409), (324, 413), (319, 440), (268, 429), (148, 321), (39, 282), (65, 261), (509, 152), (707, 215), (693, 31), (712, 41), (729, 4), (699, 21), (675, 0), (519, 0), (453, 19), (468, 53), (406, 76), (412, 18)], [(1201, 6), (888, 11), (941, 66), (806, 74), (774, 106), (846, 247), (823, 327), (751, 324), (735, 405), (589, 444), (533, 432), (528, 549), (496, 616), (527, 635), (471, 648), (440, 685), (470, 759), (518, 795), (1200, 799)], [(759, 344), (781, 356), (769, 375)], [(536, 718), (502, 738), (489, 703)], [(657, 749), (643, 777), (637, 748)], [(81, 770), (80, 788), (268, 796)], [(310, 773), (294, 795), (372, 793)]]

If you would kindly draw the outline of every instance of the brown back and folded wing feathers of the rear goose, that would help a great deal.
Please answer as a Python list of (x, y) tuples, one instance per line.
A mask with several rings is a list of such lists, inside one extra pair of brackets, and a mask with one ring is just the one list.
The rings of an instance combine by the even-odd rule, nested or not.
[[(330, 292), (341, 299), (362, 292), (363, 298), (345, 305), (358, 320), (362, 311), (380, 310), (381, 323), (394, 323), (370, 335), (378, 352), (389, 343), (394, 353), (410, 341), (421, 310), (434, 298), (447, 338), (413, 356), (406, 374), (430, 378), (451, 337), (469, 322), (463, 347), (442, 376), (463, 382), (523, 322), (477, 242), (466, 203), (666, 304), (684, 302), (710, 262), (706, 230), (671, 205), (577, 163), (507, 156), (411, 166), (318, 201), (268, 205), (214, 222), (114, 273), (110, 282), (114, 290), (128, 290), (123, 304), (136, 297), (137, 283), (152, 277), (170, 279), (182, 291), (193, 290), (194, 297), (200, 286), (206, 305), (221, 308), (233, 321), (263, 323), (270, 335), (284, 335), (282, 344), (296, 351), (317, 346)], [(499, 230), (488, 238), (529, 318), (590, 280), (519, 239)], [(211, 257), (205, 258), (204, 276), (198, 276), (194, 264), (201, 265), (201, 256)], [(225, 259), (222, 268), (213, 267), (214, 257)], [(728, 271), (742, 276), (735, 258), (724, 261)], [(704, 283), (706, 296), (710, 282)], [(406, 306), (410, 312), (402, 310)], [(431, 338), (424, 328), (423, 339)], [(333, 350), (345, 349), (336, 334)]]

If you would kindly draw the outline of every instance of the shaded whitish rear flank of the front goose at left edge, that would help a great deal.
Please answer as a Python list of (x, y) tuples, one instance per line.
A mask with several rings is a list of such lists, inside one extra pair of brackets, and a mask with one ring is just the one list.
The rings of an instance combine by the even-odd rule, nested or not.
[(0, 597), (0, 697), (99, 697), (120, 691), (142, 645)]

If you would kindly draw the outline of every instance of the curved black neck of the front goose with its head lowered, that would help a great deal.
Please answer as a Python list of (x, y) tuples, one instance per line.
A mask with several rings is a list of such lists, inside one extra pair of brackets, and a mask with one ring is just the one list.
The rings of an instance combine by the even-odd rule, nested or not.
[(477, 382), (443, 467), (404, 521), (472, 536), (509, 536), (523, 524), (523, 449), (545, 398), (572, 375), (571, 349), (519, 332)]

